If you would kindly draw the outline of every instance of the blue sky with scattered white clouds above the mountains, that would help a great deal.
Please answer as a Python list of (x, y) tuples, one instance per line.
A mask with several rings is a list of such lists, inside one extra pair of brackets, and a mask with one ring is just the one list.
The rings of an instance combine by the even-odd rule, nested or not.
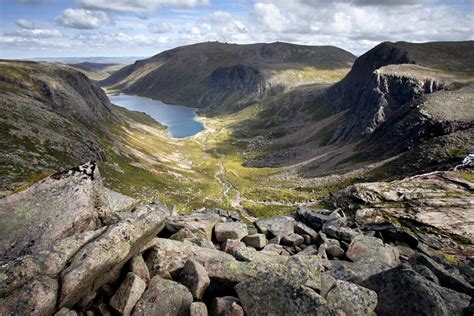
[(474, 39), (474, 0), (0, 0), (0, 58), (155, 55), (197, 42)]

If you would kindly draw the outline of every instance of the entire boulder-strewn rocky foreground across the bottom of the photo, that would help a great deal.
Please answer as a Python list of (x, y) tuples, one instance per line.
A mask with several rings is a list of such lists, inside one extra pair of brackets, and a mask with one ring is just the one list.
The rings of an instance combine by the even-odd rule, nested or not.
[(0, 200), (0, 315), (471, 315), (471, 179), (359, 184), (335, 210), (244, 223), (139, 206), (88, 163)]

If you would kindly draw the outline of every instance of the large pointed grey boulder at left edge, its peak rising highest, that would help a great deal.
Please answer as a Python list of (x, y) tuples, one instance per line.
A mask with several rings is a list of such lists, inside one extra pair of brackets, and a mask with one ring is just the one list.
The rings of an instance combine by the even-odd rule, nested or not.
[(0, 263), (102, 226), (110, 208), (96, 164), (56, 173), (0, 203)]

